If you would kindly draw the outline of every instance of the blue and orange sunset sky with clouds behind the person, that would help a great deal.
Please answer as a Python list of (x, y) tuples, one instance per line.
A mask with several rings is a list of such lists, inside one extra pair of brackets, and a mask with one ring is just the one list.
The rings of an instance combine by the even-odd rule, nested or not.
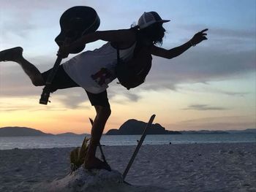
[[(157, 115), (154, 123), (175, 131), (256, 128), (255, 0), (0, 0), (0, 50), (21, 46), (24, 57), (45, 72), (56, 60), (59, 18), (78, 5), (96, 9), (99, 30), (129, 28), (143, 12), (156, 11), (171, 20), (164, 24), (162, 47), (167, 49), (209, 29), (208, 41), (183, 55), (154, 57), (139, 88), (127, 91), (116, 80), (111, 82), (112, 115), (105, 132), (130, 118), (147, 121), (152, 114)], [(104, 43), (91, 43), (85, 50)], [(90, 132), (88, 118), (95, 112), (82, 88), (56, 91), (48, 105), (39, 104), (41, 93), (42, 87), (32, 86), (18, 64), (1, 62), (0, 127)]]

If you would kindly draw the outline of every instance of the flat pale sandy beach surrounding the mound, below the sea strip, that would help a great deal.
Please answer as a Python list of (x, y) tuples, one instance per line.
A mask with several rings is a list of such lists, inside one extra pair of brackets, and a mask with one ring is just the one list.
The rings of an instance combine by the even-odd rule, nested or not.
[[(0, 191), (48, 191), (48, 184), (69, 174), (71, 150), (0, 150)], [(112, 169), (122, 174), (135, 146), (103, 150)], [(143, 145), (125, 180), (149, 192), (256, 191), (255, 159), (256, 143)], [(108, 187), (101, 191), (115, 188)], [(116, 191), (132, 187), (120, 185)]]

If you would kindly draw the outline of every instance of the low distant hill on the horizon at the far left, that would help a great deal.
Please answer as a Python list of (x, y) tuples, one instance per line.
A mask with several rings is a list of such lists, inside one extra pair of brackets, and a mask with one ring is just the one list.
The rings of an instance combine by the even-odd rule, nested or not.
[(34, 128), (27, 127), (2, 127), (0, 128), (0, 137), (19, 137), (19, 136), (52, 136), (45, 134)]

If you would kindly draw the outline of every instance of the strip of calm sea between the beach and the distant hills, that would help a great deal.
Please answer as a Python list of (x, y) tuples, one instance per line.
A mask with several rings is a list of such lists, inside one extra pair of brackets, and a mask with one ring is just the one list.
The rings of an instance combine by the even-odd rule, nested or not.
[[(102, 145), (137, 145), (140, 135), (103, 135)], [(82, 136), (0, 137), (0, 150), (14, 148), (78, 147)], [(147, 135), (143, 145), (256, 142), (256, 134), (169, 134)]]

